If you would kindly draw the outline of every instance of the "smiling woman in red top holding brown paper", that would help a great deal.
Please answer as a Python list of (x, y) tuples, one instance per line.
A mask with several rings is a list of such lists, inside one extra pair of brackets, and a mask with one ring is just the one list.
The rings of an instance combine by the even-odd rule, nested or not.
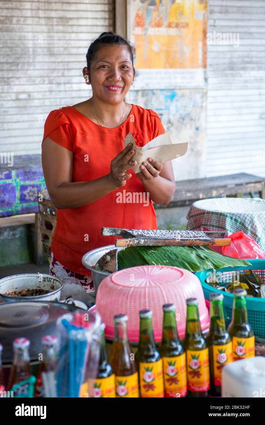
[(149, 158), (135, 174), (132, 146), (124, 149), (129, 132), (138, 146), (165, 132), (157, 113), (124, 101), (135, 77), (133, 54), (127, 40), (102, 33), (83, 69), (93, 96), (51, 111), (44, 126), (42, 167), (57, 208), (50, 272), (90, 290), (82, 256), (116, 239), (101, 236), (101, 228), (157, 229), (152, 201), (168, 204), (175, 190), (171, 161)]

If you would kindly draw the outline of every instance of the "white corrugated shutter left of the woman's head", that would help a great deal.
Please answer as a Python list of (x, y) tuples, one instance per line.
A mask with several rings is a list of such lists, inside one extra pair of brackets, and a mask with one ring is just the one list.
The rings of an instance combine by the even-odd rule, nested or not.
[(0, 1), (0, 23), (0, 151), (40, 153), (48, 113), (88, 98), (85, 55), (114, 0)]

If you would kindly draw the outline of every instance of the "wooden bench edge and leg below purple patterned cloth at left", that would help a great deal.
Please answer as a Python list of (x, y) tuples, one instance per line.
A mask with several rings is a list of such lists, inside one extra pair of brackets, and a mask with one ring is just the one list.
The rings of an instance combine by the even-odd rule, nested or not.
[(23, 224), (34, 224), (34, 261), (36, 264), (42, 264), (42, 241), (39, 228), (39, 214), (31, 212), (29, 214), (0, 217), (0, 227), (21, 226)]

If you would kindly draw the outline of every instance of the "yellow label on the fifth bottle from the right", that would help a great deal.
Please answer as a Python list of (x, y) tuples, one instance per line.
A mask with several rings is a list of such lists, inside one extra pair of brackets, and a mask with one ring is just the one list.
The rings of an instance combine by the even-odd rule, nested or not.
[(139, 364), (141, 397), (164, 397), (162, 359)]

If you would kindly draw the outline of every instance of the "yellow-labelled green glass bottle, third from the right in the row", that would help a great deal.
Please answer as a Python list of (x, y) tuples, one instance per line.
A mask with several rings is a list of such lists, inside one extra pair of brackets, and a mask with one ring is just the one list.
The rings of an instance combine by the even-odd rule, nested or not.
[(208, 397), (210, 388), (209, 350), (200, 329), (198, 300), (189, 298), (186, 302), (186, 334), (183, 347), (186, 350), (187, 397)]

